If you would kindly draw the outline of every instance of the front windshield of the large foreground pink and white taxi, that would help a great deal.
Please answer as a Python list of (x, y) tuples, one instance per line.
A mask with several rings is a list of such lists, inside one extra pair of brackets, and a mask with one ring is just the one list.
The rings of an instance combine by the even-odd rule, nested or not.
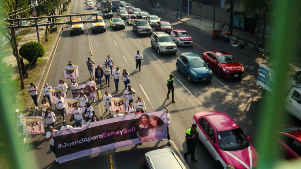
[(248, 147), (249, 141), (241, 128), (217, 132), (219, 147), (222, 150), (237, 150)]

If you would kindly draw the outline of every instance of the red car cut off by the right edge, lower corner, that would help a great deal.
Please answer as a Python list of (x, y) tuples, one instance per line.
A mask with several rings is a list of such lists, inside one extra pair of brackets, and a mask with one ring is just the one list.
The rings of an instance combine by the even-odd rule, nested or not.
[(301, 128), (287, 125), (279, 130), (281, 138), (279, 139), (281, 147), (287, 154), (287, 157), (301, 159)]

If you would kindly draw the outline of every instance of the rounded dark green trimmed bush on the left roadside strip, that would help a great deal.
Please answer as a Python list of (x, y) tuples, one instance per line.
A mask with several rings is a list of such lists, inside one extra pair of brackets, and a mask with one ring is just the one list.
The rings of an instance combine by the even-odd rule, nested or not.
[(22, 58), (28, 60), (29, 63), (36, 63), (39, 57), (44, 56), (44, 48), (39, 42), (26, 42), (19, 50), (19, 54)]

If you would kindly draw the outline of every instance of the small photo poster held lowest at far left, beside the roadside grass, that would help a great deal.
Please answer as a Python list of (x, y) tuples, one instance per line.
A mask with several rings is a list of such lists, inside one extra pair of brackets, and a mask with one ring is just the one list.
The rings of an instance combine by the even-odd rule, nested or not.
[(42, 134), (44, 130), (44, 116), (23, 117), (23, 134)]

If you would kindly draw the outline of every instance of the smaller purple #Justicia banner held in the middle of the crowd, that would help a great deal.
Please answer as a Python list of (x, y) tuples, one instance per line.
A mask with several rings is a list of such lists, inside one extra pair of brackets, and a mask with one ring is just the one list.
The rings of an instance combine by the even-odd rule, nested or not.
[(90, 84), (81, 84), (78, 86), (72, 86), (71, 92), (73, 97), (78, 97), (81, 91), (84, 91), (88, 99), (95, 98), (96, 96), (96, 86), (94, 83)]

